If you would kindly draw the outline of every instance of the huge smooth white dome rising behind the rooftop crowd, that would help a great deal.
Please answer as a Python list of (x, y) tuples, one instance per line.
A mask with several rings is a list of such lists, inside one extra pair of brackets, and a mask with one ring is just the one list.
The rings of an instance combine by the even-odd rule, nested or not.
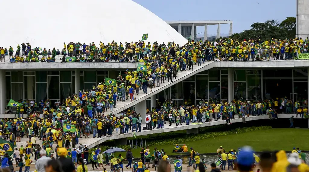
[[(187, 40), (158, 16), (131, 0), (12, 0), (2, 1), (0, 46), (16, 50), (17, 44), (61, 50), (65, 42), (99, 46), (142, 40), (152, 45)], [(138, 14), (138, 15), (136, 15)], [(20, 45), (21, 46), (21, 45)]]

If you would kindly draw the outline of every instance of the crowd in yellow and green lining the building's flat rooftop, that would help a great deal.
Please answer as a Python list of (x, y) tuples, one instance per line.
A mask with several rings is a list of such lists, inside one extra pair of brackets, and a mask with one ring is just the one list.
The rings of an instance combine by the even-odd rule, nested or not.
[[(156, 59), (161, 61), (162, 58), (170, 54), (174, 59), (178, 60), (179, 65), (190, 65), (188, 56), (192, 56), (194, 63), (203, 61), (237, 61), (237, 60), (297, 60), (298, 54), (306, 54), (308, 50), (308, 37), (295, 39), (275, 39), (260, 40), (260, 39), (244, 39), (232, 40), (218, 39), (215, 41), (188, 40), (184, 46), (180, 46), (174, 42), (168, 42), (167, 45), (154, 42), (150, 44), (144, 41), (138, 42), (121, 42), (117, 44), (115, 41), (99, 45), (94, 42), (90, 44), (81, 44), (80, 42), (68, 44), (63, 43), (63, 48), (53, 48), (46, 50), (44, 48), (32, 48), (30, 43), (22, 43), (16, 47), (16, 52), (11, 46), (9, 49), (1, 47), (1, 61), (5, 55), (9, 55), (9, 61), (14, 62), (55, 62), (56, 56), (61, 55), (62, 62), (66, 62), (67, 57), (75, 57), (73, 62), (135, 62), (135, 61), (152, 61)], [(22, 49), (22, 52), (20, 50)], [(14, 55), (15, 52), (15, 55)], [(40, 57), (39, 57), (40, 56)], [(180, 61), (180, 58), (182, 60)], [(186, 61), (184, 61), (186, 59)], [(187, 62), (188, 61), (188, 62)]]

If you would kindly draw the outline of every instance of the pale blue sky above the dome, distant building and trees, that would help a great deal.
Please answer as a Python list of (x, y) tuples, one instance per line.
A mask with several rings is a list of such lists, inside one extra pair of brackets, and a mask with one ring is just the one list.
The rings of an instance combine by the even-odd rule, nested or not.
[[(255, 22), (296, 16), (295, 0), (133, 0), (163, 20), (233, 20), (233, 33), (250, 29)], [(220, 32), (229, 33), (229, 24)], [(217, 34), (217, 25), (208, 26), (208, 36)], [(204, 27), (197, 27), (203, 36)]]

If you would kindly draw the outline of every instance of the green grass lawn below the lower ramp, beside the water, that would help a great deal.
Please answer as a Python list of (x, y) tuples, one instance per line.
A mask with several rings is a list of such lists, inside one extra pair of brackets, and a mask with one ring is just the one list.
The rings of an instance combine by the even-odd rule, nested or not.
[[(304, 138), (309, 138), (308, 129), (273, 128), (270, 130), (219, 136), (180, 144), (186, 144), (188, 149), (193, 147), (198, 153), (215, 153), (219, 146), (222, 146), (225, 150), (237, 150), (237, 148), (244, 145), (252, 146), (255, 151), (292, 150), (293, 147), (299, 147), (301, 150), (309, 150), (309, 145), (307, 144), (308, 139)], [(159, 141), (160, 138), (158, 138)], [(157, 146), (157, 149), (164, 149), (168, 155), (176, 155), (177, 153), (172, 153), (174, 147), (175, 145), (160, 145)], [(139, 148), (132, 149), (133, 156), (140, 157), (140, 150)], [(153, 150), (154, 146), (150, 146), (150, 153)]]

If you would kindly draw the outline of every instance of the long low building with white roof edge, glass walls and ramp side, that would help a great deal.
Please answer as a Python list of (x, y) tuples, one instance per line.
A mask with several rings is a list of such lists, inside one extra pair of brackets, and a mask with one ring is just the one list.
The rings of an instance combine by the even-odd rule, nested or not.
[[(104, 78), (116, 78), (137, 66), (126, 62), (56, 64), (56, 68), (45, 66), (44, 69), (48, 64), (0, 63), (1, 113), (10, 99), (62, 101), (79, 89), (89, 90)], [(149, 94), (140, 94), (133, 103), (121, 102), (115, 113), (133, 105), (144, 109), (154, 107), (156, 101), (165, 99), (172, 99), (178, 105), (185, 101), (196, 105), (209, 99), (230, 102), (286, 97), (302, 101), (308, 99), (308, 66), (309, 61), (208, 62), (194, 71), (180, 72), (176, 81), (156, 87)]]

